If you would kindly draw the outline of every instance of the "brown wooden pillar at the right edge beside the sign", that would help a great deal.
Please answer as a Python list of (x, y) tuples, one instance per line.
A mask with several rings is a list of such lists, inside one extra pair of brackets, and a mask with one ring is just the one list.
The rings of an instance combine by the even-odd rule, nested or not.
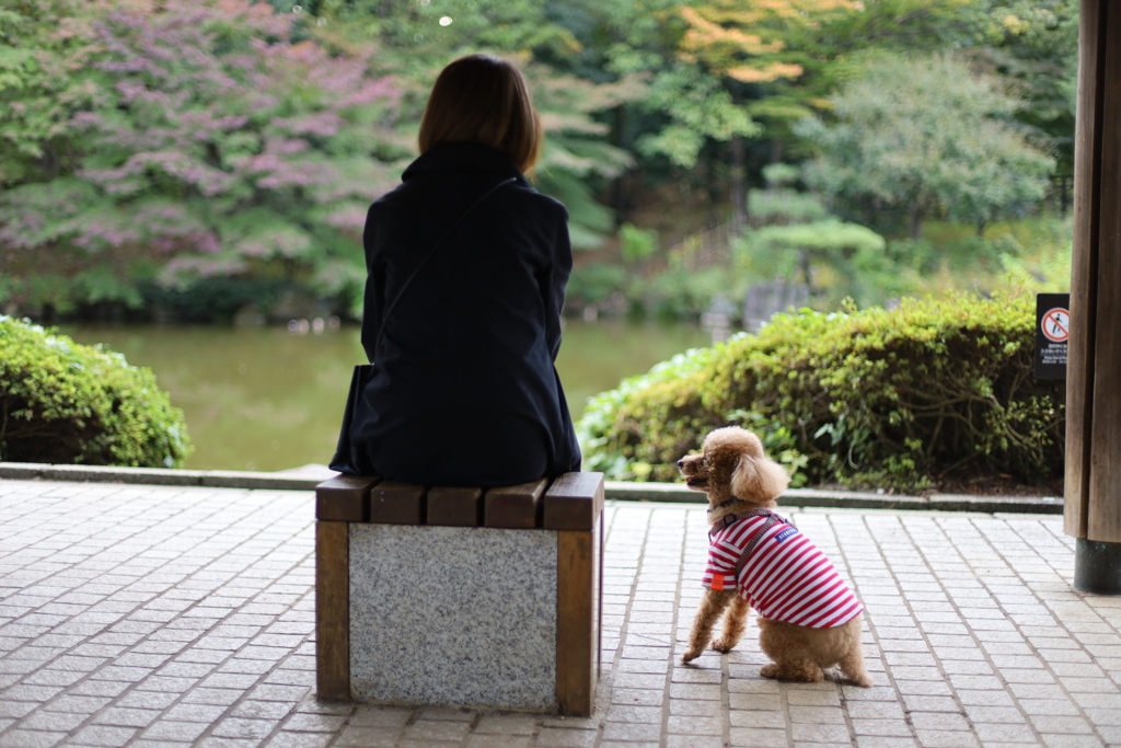
[(1064, 530), (1075, 588), (1121, 594), (1121, 2), (1082, 0)]

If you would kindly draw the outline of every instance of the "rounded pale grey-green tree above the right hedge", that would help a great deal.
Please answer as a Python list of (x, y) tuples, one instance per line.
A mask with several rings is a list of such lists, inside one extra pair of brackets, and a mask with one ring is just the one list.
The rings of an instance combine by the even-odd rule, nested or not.
[(1055, 161), (1010, 126), (1019, 102), (952, 57), (883, 59), (832, 102), (833, 122), (796, 127), (821, 149), (807, 182), (830, 195), (907, 206), (912, 239), (939, 209), (983, 227), (1046, 192)]

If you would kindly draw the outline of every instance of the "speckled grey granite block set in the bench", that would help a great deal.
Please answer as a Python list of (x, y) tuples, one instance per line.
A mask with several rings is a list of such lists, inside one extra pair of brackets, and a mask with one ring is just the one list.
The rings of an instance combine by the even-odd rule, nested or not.
[(350, 527), (355, 700), (556, 709), (557, 533)]

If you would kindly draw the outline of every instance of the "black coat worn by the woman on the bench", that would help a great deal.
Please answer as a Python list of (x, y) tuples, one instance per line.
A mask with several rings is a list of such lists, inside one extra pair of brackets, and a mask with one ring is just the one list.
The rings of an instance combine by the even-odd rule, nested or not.
[[(378, 331), (401, 285), (452, 231)], [(370, 206), (362, 345), (376, 375), (355, 441), (382, 478), (507, 486), (580, 469), (553, 366), (572, 271), (568, 213), (506, 156), (442, 144)], [(377, 348), (377, 350), (376, 350)]]

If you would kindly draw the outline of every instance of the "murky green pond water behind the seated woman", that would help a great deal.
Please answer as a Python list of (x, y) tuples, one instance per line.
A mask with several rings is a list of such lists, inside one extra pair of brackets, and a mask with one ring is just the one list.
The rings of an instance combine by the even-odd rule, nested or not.
[[(326, 463), (351, 371), (364, 363), (356, 326), (293, 334), (284, 327), (64, 325), (150, 368), (183, 408), (193, 470), (286, 470)], [(587, 398), (647, 371), (708, 333), (689, 325), (569, 321), (557, 370), (578, 419)]]

